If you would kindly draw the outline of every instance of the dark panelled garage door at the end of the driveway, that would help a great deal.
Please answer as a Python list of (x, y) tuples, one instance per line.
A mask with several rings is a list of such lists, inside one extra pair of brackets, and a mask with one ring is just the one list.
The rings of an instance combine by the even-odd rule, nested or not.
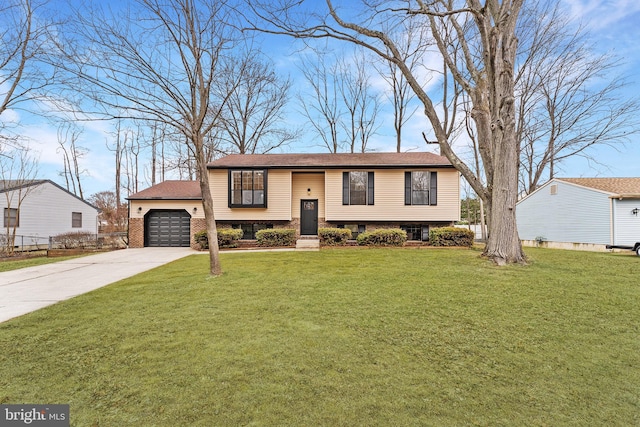
[(152, 210), (145, 216), (145, 246), (189, 247), (191, 215), (185, 210)]

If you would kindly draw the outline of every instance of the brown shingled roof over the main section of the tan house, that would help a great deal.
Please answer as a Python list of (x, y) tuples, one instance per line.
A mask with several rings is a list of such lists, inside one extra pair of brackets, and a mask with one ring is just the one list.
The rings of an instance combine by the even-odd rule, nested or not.
[(323, 153), (323, 154), (230, 154), (207, 165), (209, 169), (341, 169), (445, 167), (451, 162), (433, 153)]

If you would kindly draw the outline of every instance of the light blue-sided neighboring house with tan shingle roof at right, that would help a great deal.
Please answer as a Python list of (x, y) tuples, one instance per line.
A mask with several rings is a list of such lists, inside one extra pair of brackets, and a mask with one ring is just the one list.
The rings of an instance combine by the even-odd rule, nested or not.
[(517, 204), (525, 245), (604, 250), (640, 241), (640, 178), (555, 178)]

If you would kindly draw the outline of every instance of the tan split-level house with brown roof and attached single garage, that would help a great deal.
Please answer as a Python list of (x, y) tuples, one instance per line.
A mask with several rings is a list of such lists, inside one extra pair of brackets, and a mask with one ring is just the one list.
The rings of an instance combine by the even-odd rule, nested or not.
[[(208, 165), (219, 228), (245, 239), (264, 228), (319, 227), (354, 233), (403, 228), (426, 240), (429, 227), (460, 216), (460, 175), (432, 153), (233, 154)], [(132, 247), (188, 246), (204, 229), (198, 184), (166, 181), (131, 195)]]

